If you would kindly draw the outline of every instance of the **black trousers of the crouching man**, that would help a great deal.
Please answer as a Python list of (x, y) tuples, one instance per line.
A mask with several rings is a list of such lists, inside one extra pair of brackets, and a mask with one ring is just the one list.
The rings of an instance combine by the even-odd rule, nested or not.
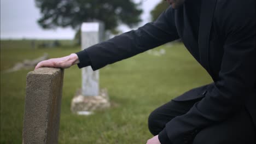
[[(148, 118), (149, 131), (158, 135), (165, 124), (172, 118), (187, 113), (189, 109), (201, 99), (189, 101), (173, 101), (158, 107)], [(211, 127), (199, 131), (191, 140), (193, 144), (255, 144), (256, 132), (253, 122), (246, 109), (238, 111), (234, 116)]]

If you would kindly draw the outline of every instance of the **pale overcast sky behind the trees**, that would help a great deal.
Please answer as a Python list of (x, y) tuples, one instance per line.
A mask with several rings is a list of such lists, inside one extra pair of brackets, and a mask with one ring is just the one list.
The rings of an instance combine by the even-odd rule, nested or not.
[[(121, 1), (121, 0), (120, 0)], [(133, 0), (139, 2), (141, 0)], [(144, 23), (150, 21), (150, 10), (162, 0), (142, 0)], [(73, 39), (74, 31), (71, 28), (57, 28), (45, 30), (39, 27), (37, 20), (40, 17), (39, 9), (34, 0), (1, 0), (1, 39)], [(130, 29), (121, 26), (123, 32)]]

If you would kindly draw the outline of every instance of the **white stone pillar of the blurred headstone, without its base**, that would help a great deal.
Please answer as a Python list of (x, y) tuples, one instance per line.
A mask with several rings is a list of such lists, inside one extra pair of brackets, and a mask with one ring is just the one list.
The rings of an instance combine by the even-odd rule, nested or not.
[[(82, 50), (100, 43), (103, 37), (103, 24), (100, 22), (84, 22), (81, 27)], [(91, 67), (82, 69), (82, 95), (99, 95), (99, 70)]]

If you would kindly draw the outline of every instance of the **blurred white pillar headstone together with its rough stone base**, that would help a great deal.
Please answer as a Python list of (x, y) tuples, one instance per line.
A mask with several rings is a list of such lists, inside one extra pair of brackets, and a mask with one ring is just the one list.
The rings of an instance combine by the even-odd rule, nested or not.
[[(104, 28), (100, 22), (84, 22), (81, 27), (82, 50), (100, 43), (103, 40)], [(100, 90), (99, 70), (92, 70), (91, 67), (82, 69), (82, 89), (78, 91), (71, 103), (71, 110), (74, 113), (90, 113), (97, 109), (109, 107), (109, 100), (106, 89)]]

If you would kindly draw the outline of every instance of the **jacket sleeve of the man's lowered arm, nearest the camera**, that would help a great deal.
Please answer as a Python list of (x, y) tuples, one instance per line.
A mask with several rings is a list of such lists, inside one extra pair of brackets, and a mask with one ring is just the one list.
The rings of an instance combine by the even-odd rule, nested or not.
[(225, 33), (219, 79), (212, 91), (185, 115), (166, 124), (159, 134), (162, 143), (186, 143), (200, 129), (222, 122), (237, 112), (247, 97), (255, 97), (252, 95), (256, 82), (255, 1), (228, 2), (231, 8), (225, 13), (222, 10), (222, 16), (216, 18), (220, 19), (220, 29)]

